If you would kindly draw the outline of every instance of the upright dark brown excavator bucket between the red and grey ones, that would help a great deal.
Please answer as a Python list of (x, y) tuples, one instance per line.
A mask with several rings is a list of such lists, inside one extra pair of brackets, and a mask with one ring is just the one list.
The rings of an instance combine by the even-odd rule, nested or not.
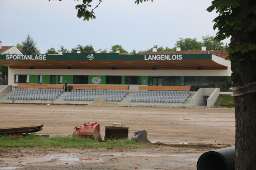
[(113, 126), (105, 126), (104, 140), (122, 140), (128, 139), (128, 126), (122, 126), (121, 123), (113, 123)]

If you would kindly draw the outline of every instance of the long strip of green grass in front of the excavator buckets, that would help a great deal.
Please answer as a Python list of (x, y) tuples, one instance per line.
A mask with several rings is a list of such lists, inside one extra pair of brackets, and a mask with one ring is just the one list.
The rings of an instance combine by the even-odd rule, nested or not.
[(90, 138), (82, 137), (40, 137), (27, 135), (20, 138), (9, 137), (8, 135), (0, 136), (0, 147), (131, 147), (139, 148), (149, 146), (140, 144), (128, 139), (120, 141), (106, 141), (99, 143)]

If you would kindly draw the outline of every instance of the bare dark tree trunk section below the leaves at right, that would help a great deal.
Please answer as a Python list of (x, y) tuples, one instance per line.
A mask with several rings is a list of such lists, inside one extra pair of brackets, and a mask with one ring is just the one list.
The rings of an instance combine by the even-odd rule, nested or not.
[[(255, 81), (256, 63), (232, 61), (233, 85), (242, 86)], [(256, 93), (235, 96), (236, 170), (256, 168)]]

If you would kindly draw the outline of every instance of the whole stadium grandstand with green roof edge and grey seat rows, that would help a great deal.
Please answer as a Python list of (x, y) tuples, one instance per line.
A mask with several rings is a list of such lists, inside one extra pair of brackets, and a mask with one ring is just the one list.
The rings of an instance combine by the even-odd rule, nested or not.
[[(15, 49), (16, 50), (16, 49)], [(56, 55), (1, 53), (8, 66), (2, 103), (212, 106), (230, 93), (224, 50)]]

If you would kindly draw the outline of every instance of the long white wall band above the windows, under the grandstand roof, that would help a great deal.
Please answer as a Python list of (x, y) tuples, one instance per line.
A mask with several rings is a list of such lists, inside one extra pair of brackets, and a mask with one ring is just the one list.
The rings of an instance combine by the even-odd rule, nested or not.
[(108, 76), (230, 76), (228, 70), (73, 70), (73, 69), (9, 69), (8, 84), (14, 74), (28, 75), (108, 75)]

